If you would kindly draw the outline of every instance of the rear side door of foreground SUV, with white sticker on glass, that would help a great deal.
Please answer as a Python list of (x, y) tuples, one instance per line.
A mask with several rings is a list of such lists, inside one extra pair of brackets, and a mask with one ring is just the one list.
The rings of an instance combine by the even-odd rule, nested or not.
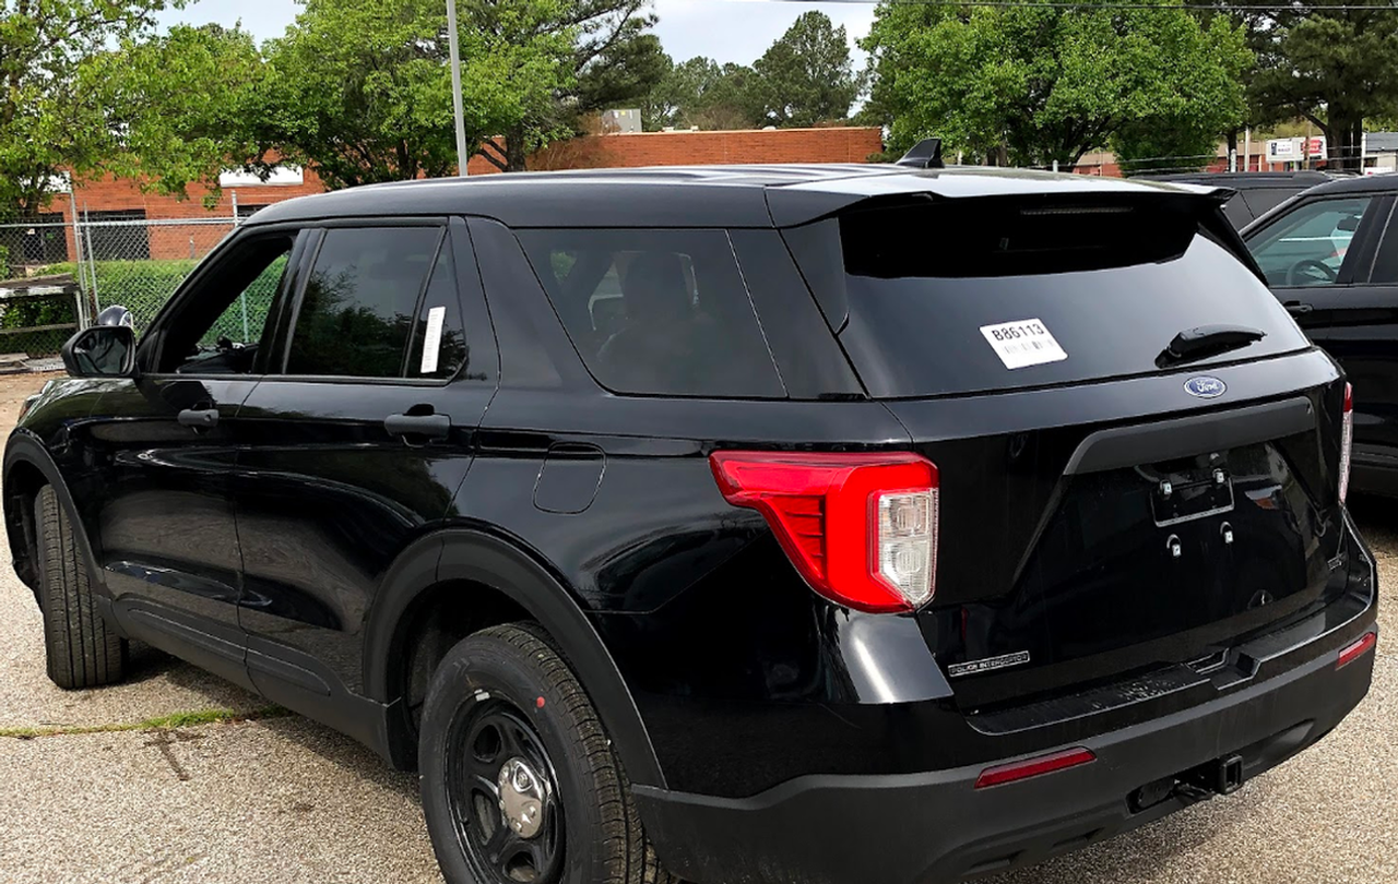
[(498, 374), (461, 221), (315, 236), (278, 362), (243, 404), (236, 480), (249, 672), (312, 715), (361, 688), (375, 591), (446, 515)]

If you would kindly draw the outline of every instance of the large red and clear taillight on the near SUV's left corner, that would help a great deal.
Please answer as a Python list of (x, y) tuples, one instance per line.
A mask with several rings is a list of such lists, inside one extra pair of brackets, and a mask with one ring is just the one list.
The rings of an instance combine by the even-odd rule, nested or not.
[(937, 587), (937, 466), (909, 452), (716, 451), (724, 499), (768, 520), (805, 582), (872, 613), (913, 610)]

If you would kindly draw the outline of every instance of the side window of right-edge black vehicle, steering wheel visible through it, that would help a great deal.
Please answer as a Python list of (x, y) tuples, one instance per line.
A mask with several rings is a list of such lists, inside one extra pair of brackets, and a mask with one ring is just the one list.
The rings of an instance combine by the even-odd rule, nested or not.
[(1248, 242), (1268, 285), (1334, 285), (1371, 204), (1370, 197), (1318, 200), (1268, 225)]

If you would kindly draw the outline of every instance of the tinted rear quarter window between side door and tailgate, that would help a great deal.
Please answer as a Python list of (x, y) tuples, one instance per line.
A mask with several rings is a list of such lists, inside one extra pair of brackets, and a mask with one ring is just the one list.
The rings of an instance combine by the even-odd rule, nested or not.
[(723, 230), (523, 230), (520, 240), (604, 387), (786, 395)]

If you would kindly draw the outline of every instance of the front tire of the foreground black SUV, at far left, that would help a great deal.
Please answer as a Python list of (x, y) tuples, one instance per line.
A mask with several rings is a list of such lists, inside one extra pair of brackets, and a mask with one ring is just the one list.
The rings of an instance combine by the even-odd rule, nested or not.
[(73, 522), (52, 485), (39, 489), (34, 499), (34, 525), (49, 679), (70, 690), (120, 682), (126, 672), (126, 640), (109, 630), (96, 610)]

